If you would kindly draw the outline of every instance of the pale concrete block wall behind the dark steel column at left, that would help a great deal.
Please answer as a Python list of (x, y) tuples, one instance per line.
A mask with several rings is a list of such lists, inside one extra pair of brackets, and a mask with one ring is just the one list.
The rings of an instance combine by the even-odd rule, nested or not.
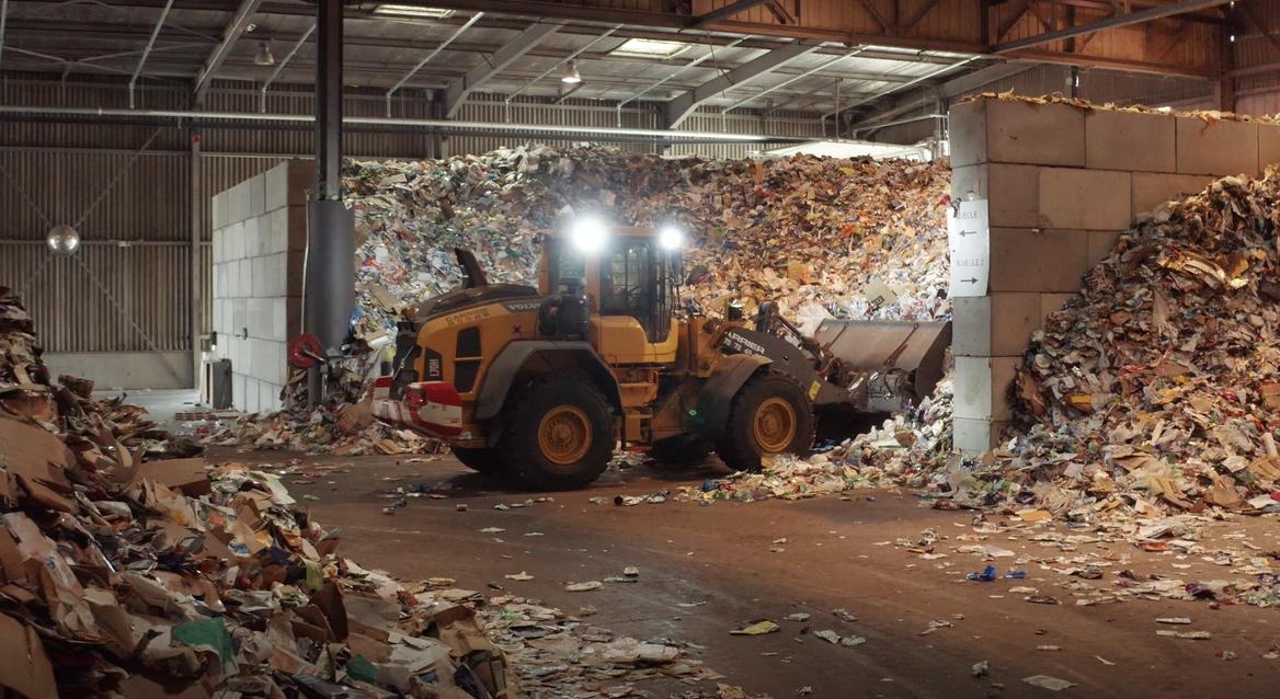
[(214, 197), (215, 356), (232, 362), (232, 405), (279, 410), (287, 343), (302, 328), (307, 189), (315, 168), (292, 160)]

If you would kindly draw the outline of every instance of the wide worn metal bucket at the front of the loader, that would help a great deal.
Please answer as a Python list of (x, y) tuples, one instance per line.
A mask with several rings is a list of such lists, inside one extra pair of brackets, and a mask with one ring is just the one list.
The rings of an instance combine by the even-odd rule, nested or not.
[(814, 338), (860, 371), (914, 371), (915, 397), (923, 399), (942, 379), (943, 355), (951, 344), (951, 321), (827, 319)]

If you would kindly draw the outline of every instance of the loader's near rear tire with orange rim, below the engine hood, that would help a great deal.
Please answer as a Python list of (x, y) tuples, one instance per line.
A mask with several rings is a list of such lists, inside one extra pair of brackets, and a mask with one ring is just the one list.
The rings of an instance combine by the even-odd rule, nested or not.
[(599, 388), (573, 375), (530, 382), (508, 399), (503, 422), (497, 452), (536, 490), (584, 488), (613, 458), (609, 403)]

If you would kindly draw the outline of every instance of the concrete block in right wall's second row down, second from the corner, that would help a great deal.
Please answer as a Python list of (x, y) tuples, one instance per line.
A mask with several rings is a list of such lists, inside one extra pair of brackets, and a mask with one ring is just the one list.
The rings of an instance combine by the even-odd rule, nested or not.
[(1044, 228), (1125, 230), (1133, 216), (1129, 173), (1041, 168), (1039, 213)]

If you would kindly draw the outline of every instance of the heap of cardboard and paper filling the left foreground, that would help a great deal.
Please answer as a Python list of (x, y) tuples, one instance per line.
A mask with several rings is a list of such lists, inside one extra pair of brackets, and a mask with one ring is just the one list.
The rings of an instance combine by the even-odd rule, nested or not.
[(0, 694), (549, 699), (719, 677), (680, 641), (361, 568), (278, 474), (207, 465), (91, 390), (49, 380), (0, 287)]

